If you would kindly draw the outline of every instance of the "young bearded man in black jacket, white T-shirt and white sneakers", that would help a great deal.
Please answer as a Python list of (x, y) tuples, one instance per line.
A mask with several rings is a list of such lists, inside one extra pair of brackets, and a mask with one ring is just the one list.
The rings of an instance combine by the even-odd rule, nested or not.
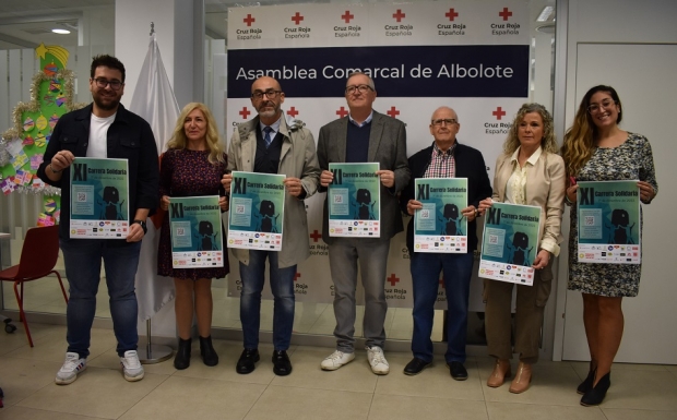
[[(117, 58), (94, 58), (90, 91), (93, 104), (59, 119), (47, 146), (44, 163), (38, 169), (38, 177), (43, 181), (61, 188), (59, 237), (70, 299), (67, 309), (68, 350), (63, 367), (55, 380), (60, 385), (75, 381), (78, 373), (86, 367), (102, 259), (106, 268), (110, 315), (124, 379), (143, 379), (143, 367), (136, 355), (139, 334), (134, 275), (141, 240), (146, 232), (145, 220), (158, 202), (157, 146), (149, 123), (120, 104), (124, 93), (124, 65)], [(72, 235), (71, 170), (74, 170), (72, 165), (78, 164), (76, 159), (83, 157), (127, 161), (127, 214), (112, 205), (122, 204), (123, 199), (118, 196), (118, 192), (108, 188), (108, 191), (103, 191), (100, 199), (110, 203), (107, 207), (114, 209), (111, 214), (115, 218), (124, 214), (123, 221), (129, 225), (123, 239), (75, 239)], [(115, 171), (119, 172), (121, 169)], [(110, 173), (109, 170), (106, 172)], [(84, 173), (80, 176), (84, 177)]]

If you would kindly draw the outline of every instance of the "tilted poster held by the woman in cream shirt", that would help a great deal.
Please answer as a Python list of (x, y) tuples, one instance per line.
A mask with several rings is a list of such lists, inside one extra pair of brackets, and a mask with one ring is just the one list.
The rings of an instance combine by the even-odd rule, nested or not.
[(485, 214), (479, 277), (532, 286), (541, 207), (494, 203)]

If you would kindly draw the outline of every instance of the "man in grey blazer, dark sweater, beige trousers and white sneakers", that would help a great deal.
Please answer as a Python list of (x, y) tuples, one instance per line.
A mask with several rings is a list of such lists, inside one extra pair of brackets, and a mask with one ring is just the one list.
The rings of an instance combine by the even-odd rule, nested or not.
[(379, 163), (381, 182), (380, 238), (337, 238), (329, 235), (329, 204), (324, 200), (322, 239), (329, 245), (329, 263), (334, 283), (336, 316), (336, 351), (321, 363), (333, 371), (355, 359), (355, 289), (359, 262), (365, 288), (364, 336), (367, 359), (376, 374), (388, 374), (390, 367), (383, 356), (385, 331), (385, 264), (390, 239), (403, 230), (397, 193), (409, 182), (406, 163), (404, 123), (372, 109), (376, 88), (371, 77), (356, 72), (348, 76), (345, 97), (351, 110), (347, 117), (320, 129), (318, 159), (322, 173), (320, 190), (333, 180), (330, 163)]

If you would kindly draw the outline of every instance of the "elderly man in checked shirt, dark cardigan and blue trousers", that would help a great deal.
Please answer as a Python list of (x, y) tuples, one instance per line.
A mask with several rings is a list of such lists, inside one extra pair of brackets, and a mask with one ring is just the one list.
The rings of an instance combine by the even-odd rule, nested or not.
[(412, 181), (402, 192), (402, 211), (414, 216), (424, 208), (415, 195), (416, 178), (466, 178), (467, 205), (460, 213), (467, 219), (467, 247), (465, 253), (416, 252), (414, 248), (414, 218), (409, 220), (406, 243), (412, 262), (414, 284), (414, 334), (412, 352), (414, 358), (404, 368), (404, 373), (415, 375), (432, 363), (433, 305), (437, 299), (440, 273), (443, 274), (447, 292), (447, 352), (444, 360), (451, 377), (467, 379), (465, 363), (465, 340), (467, 331), (467, 305), (473, 269), (473, 251), (477, 248), (475, 219), (479, 201), (491, 194), (491, 184), (482, 153), (456, 141), (459, 116), (448, 107), (440, 107), (432, 113), (430, 134), (435, 142), (409, 158)]

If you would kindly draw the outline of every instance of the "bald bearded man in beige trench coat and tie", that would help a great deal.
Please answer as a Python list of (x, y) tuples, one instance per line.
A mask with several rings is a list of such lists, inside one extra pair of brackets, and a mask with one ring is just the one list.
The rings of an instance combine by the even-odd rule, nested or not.
[[(259, 356), (261, 291), (263, 290), (265, 260), (270, 264), (271, 290), (275, 298), (273, 313), (273, 372), (292, 373), (287, 356), (294, 324), (294, 277), (296, 265), (310, 255), (305, 199), (318, 190), (320, 168), (314, 140), (304, 123), (288, 123), (283, 118), (285, 95), (273, 77), (262, 76), (251, 85), (251, 105), (258, 116), (241, 123), (233, 133), (228, 149), (230, 171), (280, 173), (284, 179), (284, 215), (281, 251), (233, 248), (239, 261), (242, 293), (240, 320), (245, 349), (237, 361), (238, 373), (251, 373)], [(233, 175), (226, 173), (222, 183), (230, 192)], [(277, 212), (274, 212), (275, 214)]]

